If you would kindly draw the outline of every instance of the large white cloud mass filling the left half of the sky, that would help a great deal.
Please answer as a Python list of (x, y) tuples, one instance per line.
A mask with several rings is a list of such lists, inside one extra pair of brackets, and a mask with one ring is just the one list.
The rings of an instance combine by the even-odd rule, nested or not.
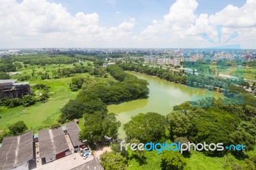
[[(90, 45), (92, 41), (124, 38), (131, 34), (135, 24), (135, 19), (130, 19), (119, 26), (100, 27), (97, 13), (78, 12), (72, 16), (61, 4), (47, 0), (24, 0), (20, 4), (0, 0), (0, 3), (0, 41), (7, 37), (17, 47), (24, 43), (47, 47), (52, 43), (58, 47), (63, 41), (67, 42), (65, 46), (77, 42), (80, 46)], [(31, 41), (36, 43), (30, 44)]]

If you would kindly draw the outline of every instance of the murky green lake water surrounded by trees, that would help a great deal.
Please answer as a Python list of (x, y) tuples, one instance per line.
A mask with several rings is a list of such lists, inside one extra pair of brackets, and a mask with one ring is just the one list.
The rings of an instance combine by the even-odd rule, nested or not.
[[(108, 105), (108, 111), (115, 112), (117, 119), (122, 125), (131, 120), (131, 116), (136, 116), (140, 112), (158, 112), (166, 116), (172, 111), (174, 105), (212, 95), (211, 91), (205, 89), (190, 88), (182, 84), (175, 84), (141, 73), (128, 73), (148, 81), (150, 93), (147, 99), (133, 100), (118, 105)], [(221, 95), (220, 93), (214, 92), (213, 96), (220, 97)], [(125, 132), (122, 126), (119, 128), (118, 134), (118, 137), (124, 139)]]

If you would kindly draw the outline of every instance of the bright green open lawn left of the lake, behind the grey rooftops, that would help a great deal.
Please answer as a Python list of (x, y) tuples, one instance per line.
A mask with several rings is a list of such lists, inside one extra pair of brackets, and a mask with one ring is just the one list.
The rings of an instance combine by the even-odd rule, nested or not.
[[(88, 76), (88, 73), (80, 73), (79, 75)], [(46, 79), (30, 81), (30, 84), (42, 83), (51, 86), (49, 89), (52, 92), (50, 98), (45, 103), (38, 102), (30, 107), (14, 107), (4, 108), (0, 107), (0, 130), (5, 130), (8, 125), (16, 121), (24, 121), (27, 127), (33, 128), (34, 132), (40, 127), (51, 126), (57, 123), (60, 109), (67, 104), (68, 100), (76, 98), (77, 92), (72, 92), (68, 88), (68, 83), (71, 82), (72, 77), (61, 79)]]

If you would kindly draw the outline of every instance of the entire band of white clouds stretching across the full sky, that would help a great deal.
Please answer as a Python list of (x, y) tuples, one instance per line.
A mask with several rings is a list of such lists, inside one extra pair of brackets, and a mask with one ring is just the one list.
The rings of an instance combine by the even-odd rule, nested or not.
[[(108, 3), (115, 7), (115, 0)], [(207, 33), (218, 42), (216, 25), (223, 25), (223, 40), (234, 31), (234, 42), (254, 47), (256, 1), (241, 8), (231, 4), (214, 15), (196, 15), (196, 0), (177, 0), (163, 19), (135, 35), (136, 19), (118, 26), (102, 27), (97, 13), (71, 15), (61, 5), (47, 0), (0, 0), (0, 43), (2, 47), (205, 47)], [(116, 14), (118, 14), (117, 12)]]

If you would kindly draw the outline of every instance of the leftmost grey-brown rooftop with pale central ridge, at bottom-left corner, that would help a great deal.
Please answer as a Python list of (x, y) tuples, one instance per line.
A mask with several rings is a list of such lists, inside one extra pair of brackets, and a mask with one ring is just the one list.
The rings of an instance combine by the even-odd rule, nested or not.
[(32, 131), (20, 136), (4, 137), (0, 149), (0, 169), (12, 169), (32, 158)]

